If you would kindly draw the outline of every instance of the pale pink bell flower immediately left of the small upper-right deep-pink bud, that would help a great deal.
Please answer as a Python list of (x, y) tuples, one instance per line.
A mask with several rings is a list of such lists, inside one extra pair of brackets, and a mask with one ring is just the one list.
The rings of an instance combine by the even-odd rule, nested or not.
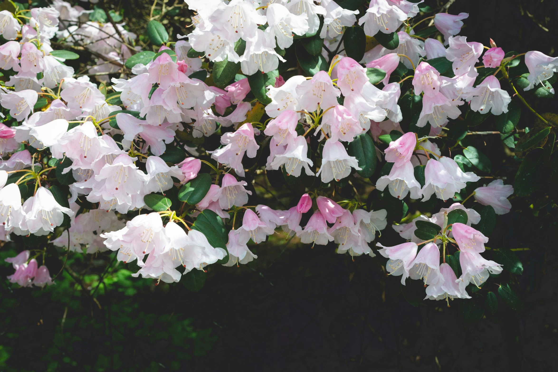
[(446, 58), (453, 62), (451, 70), (456, 76), (468, 74), (476, 76), (475, 63), (483, 52), (483, 45), (478, 42), (467, 42), (465, 36), (449, 38), (449, 48), (446, 50)]

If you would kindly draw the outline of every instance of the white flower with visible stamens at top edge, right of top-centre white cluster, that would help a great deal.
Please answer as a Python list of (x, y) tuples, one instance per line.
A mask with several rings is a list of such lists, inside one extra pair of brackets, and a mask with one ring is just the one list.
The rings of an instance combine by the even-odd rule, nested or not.
[(364, 33), (374, 36), (379, 32), (392, 33), (407, 19), (407, 13), (387, 0), (372, 0), (364, 16), (360, 17), (358, 24), (364, 23)]

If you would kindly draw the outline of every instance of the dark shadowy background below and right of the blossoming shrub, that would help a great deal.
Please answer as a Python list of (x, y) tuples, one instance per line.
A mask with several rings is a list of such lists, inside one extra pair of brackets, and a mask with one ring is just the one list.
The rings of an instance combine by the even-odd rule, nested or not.
[[(556, 1), (456, 0), (449, 12), (469, 13), (460, 33), (469, 40), (488, 45), (492, 37), (504, 51), (558, 52)], [(534, 105), (556, 112), (556, 100)], [(523, 115), (519, 126), (532, 121)], [(487, 149), (501, 146), (499, 138), (475, 141), (496, 158)], [(496, 172), (513, 178), (515, 170)], [(100, 286), (97, 304), (84, 288), (95, 287), (98, 276), (88, 273), (102, 272), (108, 261), (84, 255), (69, 260), (83, 270), (78, 280), (64, 271), (56, 290), (16, 289), (3, 280), (0, 369), (555, 371), (557, 228), (553, 221), (540, 228), (525, 200), (512, 204), (489, 245), (533, 248), (518, 252), (525, 268), (515, 283), (521, 313), (500, 302), (496, 316), (466, 324), (459, 300), (450, 308), (442, 301), (408, 304), (400, 277), (384, 275), (381, 257), (353, 262), (334, 253), (335, 244), (310, 249), (285, 245), (282, 237), (251, 247), (259, 258), (249, 265), (210, 266), (198, 293), (131, 278), (121, 263), (107, 276), (114, 282)], [(389, 226), (383, 233), (382, 243), (401, 242)], [(17, 250), (7, 244), (2, 258)], [(51, 272), (60, 267), (47, 265)], [(2, 277), (12, 272), (0, 268)]]

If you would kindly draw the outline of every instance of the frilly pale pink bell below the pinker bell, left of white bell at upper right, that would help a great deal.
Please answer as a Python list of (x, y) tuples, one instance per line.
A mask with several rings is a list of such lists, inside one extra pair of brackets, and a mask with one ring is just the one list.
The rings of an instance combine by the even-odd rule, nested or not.
[(463, 104), (463, 101), (450, 100), (441, 93), (434, 97), (425, 95), (422, 100), (422, 111), (416, 125), (422, 128), (426, 123), (430, 123), (432, 128), (440, 128), (448, 124), (448, 118), (456, 119), (461, 115), (461, 111), (457, 107), (460, 104)]

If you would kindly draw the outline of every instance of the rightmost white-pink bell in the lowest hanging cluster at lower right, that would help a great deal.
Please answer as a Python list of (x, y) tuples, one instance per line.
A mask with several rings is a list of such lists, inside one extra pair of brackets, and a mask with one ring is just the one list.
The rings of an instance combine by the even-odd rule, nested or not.
[(485, 260), (479, 253), (471, 251), (461, 251), (459, 253), (459, 263), (461, 265), (461, 276), (456, 280), (459, 290), (465, 292), (465, 287), (469, 283), (480, 288), (480, 285), (487, 281), (490, 274), (502, 272), (502, 266), (494, 261)]

